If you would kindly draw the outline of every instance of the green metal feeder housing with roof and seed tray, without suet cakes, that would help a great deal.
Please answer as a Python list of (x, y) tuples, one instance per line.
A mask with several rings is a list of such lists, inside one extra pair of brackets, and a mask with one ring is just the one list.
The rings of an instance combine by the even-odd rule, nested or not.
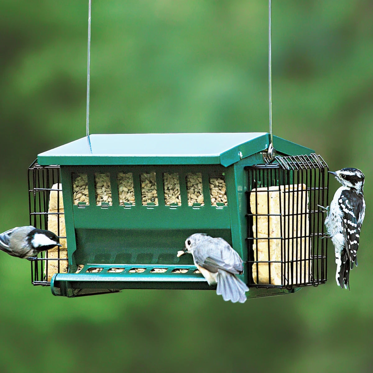
[[(273, 142), (281, 157), (310, 159), (313, 154), (308, 148), (278, 137)], [(248, 219), (250, 191), (256, 186), (291, 184), (294, 177), (291, 169), (278, 172), (277, 176), (271, 171), (272, 176), (265, 181), (263, 169), (281, 166), (277, 158), (266, 166), (263, 151), (268, 147), (267, 133), (112, 134), (90, 135), (38, 154), (37, 163), (41, 167), (59, 165), (63, 191), (68, 273), (53, 275), (52, 293), (75, 297), (134, 288), (214, 289), (196, 271), (190, 254), (176, 256), (184, 248), (185, 239), (197, 232), (222, 237), (239, 253), (244, 261), (244, 274), (239, 277), (250, 287), (249, 298), (288, 294), (300, 286), (324, 283), (326, 240), (321, 240), (322, 251), (319, 252), (317, 244), (317, 253), (312, 256), (317, 274), (314, 264), (304, 283), (278, 286), (253, 282), (253, 226)], [(259, 176), (249, 175), (251, 167), (260, 167), (261, 182), (258, 183)], [(323, 203), (327, 203), (326, 170), (326, 164), (317, 169)], [(120, 173), (132, 174), (135, 199), (132, 204), (119, 203), (117, 175)], [(157, 200), (147, 202), (145, 196), (144, 202), (142, 175), (154, 173)], [(190, 173), (201, 174), (203, 204), (191, 205), (188, 200), (186, 177)], [(285, 173), (288, 176), (281, 176)], [(109, 174), (110, 203), (96, 203), (97, 174)], [(166, 205), (164, 174), (177, 174), (181, 204)], [(86, 175), (88, 203), (74, 204), (73, 185), (78, 175)], [(306, 178), (308, 175), (305, 169), (301, 175), (303, 183), (316, 182), (316, 176), (315, 181), (303, 180), (303, 175)], [(211, 203), (211, 178), (225, 181), (226, 204)], [(298, 183), (300, 176), (297, 178)], [(310, 213), (320, 201), (320, 198), (310, 201), (314, 203)], [(315, 215), (318, 224), (313, 223), (312, 227), (318, 241), (323, 233), (323, 216), (318, 211)], [(84, 267), (76, 273), (78, 265)]]

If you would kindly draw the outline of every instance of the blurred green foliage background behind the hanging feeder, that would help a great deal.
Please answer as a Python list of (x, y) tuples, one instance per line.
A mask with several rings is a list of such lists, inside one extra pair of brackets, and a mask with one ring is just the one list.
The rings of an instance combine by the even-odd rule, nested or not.
[[(85, 135), (87, 1), (0, 2), (0, 231), (27, 167)], [(351, 291), (53, 297), (0, 253), (1, 372), (372, 372), (373, 3), (273, 0), (273, 128), (366, 175)], [(268, 131), (266, 0), (93, 1), (91, 133)], [(331, 194), (338, 187), (330, 181)]]

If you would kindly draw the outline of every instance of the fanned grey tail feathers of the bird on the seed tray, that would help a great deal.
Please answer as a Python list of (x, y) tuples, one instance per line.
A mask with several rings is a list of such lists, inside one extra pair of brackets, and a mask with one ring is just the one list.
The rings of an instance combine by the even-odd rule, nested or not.
[(244, 303), (246, 301), (245, 292), (249, 291), (249, 288), (235, 275), (219, 270), (216, 280), (216, 294), (222, 295), (225, 301), (233, 303)]

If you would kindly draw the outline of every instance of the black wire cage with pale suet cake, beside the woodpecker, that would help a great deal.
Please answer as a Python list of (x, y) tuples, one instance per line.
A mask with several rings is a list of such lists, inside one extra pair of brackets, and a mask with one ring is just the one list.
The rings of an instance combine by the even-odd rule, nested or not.
[(323, 211), (329, 174), (321, 156), (276, 157), (248, 170), (249, 286), (287, 288), (325, 283)]

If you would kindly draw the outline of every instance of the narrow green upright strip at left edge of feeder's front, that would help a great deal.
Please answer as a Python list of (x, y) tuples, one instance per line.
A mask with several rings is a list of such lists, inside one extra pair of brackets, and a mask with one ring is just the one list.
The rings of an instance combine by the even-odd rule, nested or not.
[(68, 247), (69, 266), (75, 266), (72, 255), (76, 250), (76, 240), (73, 216), (73, 196), (70, 167), (61, 166), (61, 183), (63, 206), (65, 208), (66, 241)]

